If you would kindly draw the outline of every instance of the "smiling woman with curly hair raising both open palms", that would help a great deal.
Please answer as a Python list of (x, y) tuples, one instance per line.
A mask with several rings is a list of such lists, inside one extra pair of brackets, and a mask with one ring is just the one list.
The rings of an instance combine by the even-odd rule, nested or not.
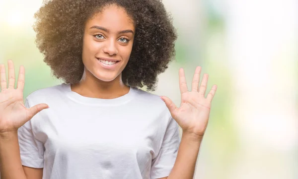
[(14, 89), (12, 60), (8, 87), (1, 64), (1, 179), (192, 179), (216, 85), (205, 98), (197, 67), (188, 91), (181, 68), (180, 108), (138, 88), (154, 90), (174, 56), (162, 3), (52, 0), (35, 17), (37, 46), (65, 83), (24, 104), (24, 67)]

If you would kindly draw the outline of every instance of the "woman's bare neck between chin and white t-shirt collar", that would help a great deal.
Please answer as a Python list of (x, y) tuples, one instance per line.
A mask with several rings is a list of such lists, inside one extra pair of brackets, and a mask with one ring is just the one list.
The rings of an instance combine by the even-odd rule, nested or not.
[(78, 83), (71, 85), (71, 89), (89, 98), (113, 99), (127, 94), (130, 87), (122, 82), (121, 74), (112, 81), (102, 81), (84, 74)]

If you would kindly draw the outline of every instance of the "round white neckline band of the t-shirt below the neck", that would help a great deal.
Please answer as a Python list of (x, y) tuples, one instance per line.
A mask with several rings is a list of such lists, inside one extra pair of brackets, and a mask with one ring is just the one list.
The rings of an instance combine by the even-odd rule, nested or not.
[(68, 83), (62, 83), (63, 88), (65, 89), (67, 96), (80, 104), (84, 104), (84, 105), (92, 105), (92, 106), (118, 106), (118, 105), (122, 105), (125, 104), (129, 101), (131, 101), (136, 92), (137, 89), (135, 87), (130, 86), (130, 90), (127, 94), (120, 96), (118, 98), (113, 98), (113, 99), (101, 99), (101, 98), (90, 98), (90, 97), (85, 97), (85, 96), (81, 96), (80, 94), (72, 91), (71, 89), (71, 84)]

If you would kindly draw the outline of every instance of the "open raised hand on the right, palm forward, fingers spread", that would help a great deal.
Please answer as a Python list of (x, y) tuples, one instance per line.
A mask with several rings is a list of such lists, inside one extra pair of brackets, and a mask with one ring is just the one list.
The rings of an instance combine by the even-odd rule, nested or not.
[(215, 95), (217, 85), (213, 85), (211, 91), (205, 98), (208, 74), (203, 75), (199, 87), (201, 67), (198, 66), (192, 81), (192, 90), (188, 91), (183, 68), (179, 69), (179, 86), (181, 92), (180, 108), (165, 96), (161, 96), (169, 109), (173, 119), (182, 128), (183, 132), (202, 139), (209, 119), (211, 101)]

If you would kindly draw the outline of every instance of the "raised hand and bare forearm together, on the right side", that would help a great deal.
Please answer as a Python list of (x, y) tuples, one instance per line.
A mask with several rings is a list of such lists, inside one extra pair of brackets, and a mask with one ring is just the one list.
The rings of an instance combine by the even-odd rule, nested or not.
[(205, 97), (208, 74), (205, 73), (200, 82), (201, 67), (198, 66), (192, 81), (191, 91), (188, 90), (184, 69), (179, 69), (179, 88), (181, 94), (180, 107), (168, 97), (162, 96), (171, 116), (182, 128), (182, 137), (175, 164), (166, 179), (193, 179), (201, 141), (209, 120), (211, 102), (217, 90), (213, 85)]

